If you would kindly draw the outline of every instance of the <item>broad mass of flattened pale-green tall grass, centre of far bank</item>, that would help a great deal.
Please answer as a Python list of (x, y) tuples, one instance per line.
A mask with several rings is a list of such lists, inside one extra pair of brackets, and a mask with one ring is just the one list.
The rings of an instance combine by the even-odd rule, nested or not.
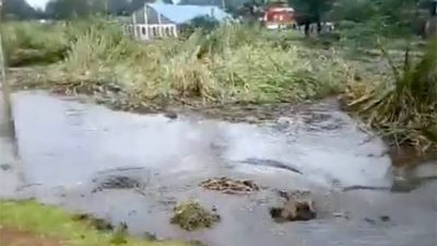
[(286, 48), (264, 31), (222, 26), (209, 35), (150, 44), (123, 36), (116, 24), (78, 34), (64, 61), (74, 79), (117, 83), (143, 99), (199, 103), (303, 101), (338, 93), (345, 62), (299, 45)]

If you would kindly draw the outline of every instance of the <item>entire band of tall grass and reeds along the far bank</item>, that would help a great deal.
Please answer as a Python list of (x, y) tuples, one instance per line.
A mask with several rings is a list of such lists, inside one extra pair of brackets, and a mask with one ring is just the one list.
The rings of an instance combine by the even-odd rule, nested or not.
[(15, 23), (8, 32), (14, 34), (10, 35), (15, 44), (10, 48), (12, 60), (25, 63), (23, 49), (40, 50), (50, 61), (57, 58), (59, 62), (46, 67), (42, 80), (51, 81), (50, 86), (61, 84), (70, 93), (110, 91), (122, 94), (129, 107), (150, 102), (295, 103), (346, 93), (352, 112), (393, 145), (421, 151), (436, 147), (437, 52), (433, 47), (425, 56), (408, 59), (405, 68), (392, 62), (392, 68), (380, 71), (367, 58), (354, 59), (362, 60), (358, 67), (370, 68), (363, 73), (355, 61), (336, 52), (342, 51), (338, 45), (336, 51), (308, 48), (288, 34), (247, 26), (149, 45), (102, 21), (68, 26)]

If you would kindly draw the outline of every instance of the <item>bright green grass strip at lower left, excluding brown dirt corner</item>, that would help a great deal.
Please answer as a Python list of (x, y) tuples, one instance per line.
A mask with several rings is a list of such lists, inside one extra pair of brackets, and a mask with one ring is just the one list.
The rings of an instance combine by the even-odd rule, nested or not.
[[(146, 242), (118, 233), (99, 232), (84, 221), (73, 220), (72, 214), (59, 208), (34, 201), (0, 201), (0, 225), (60, 238), (68, 245), (96, 246), (122, 242), (127, 246), (182, 246), (175, 242)], [(120, 239), (121, 238), (121, 239)]]

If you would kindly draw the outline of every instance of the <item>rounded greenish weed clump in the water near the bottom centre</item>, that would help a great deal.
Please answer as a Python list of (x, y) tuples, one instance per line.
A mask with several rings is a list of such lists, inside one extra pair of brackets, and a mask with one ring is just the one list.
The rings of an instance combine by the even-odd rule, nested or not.
[(175, 208), (172, 224), (178, 224), (186, 231), (194, 231), (201, 227), (211, 227), (220, 221), (220, 215), (206, 211), (199, 202), (189, 201)]

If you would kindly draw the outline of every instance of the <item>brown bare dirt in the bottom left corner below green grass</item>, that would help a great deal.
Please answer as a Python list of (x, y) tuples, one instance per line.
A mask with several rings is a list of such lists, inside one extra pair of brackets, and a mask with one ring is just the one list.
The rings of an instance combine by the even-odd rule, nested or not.
[(61, 241), (0, 225), (0, 246), (62, 246)]

